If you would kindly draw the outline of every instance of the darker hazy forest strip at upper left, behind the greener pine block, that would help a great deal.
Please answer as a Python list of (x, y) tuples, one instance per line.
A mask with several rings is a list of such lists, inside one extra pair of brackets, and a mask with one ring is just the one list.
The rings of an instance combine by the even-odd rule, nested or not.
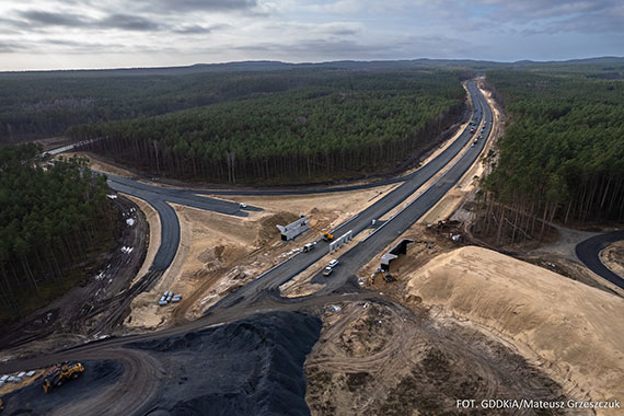
[(51, 137), (79, 124), (164, 114), (316, 81), (275, 72), (0, 78), (0, 142)]

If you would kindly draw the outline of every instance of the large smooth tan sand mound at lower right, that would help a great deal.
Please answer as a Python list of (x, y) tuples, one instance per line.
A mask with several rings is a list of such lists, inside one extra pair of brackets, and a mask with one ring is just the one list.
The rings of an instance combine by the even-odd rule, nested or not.
[(411, 276), (406, 298), (441, 305), (500, 332), (547, 371), (592, 400), (624, 397), (624, 299), (479, 247), (434, 258)]

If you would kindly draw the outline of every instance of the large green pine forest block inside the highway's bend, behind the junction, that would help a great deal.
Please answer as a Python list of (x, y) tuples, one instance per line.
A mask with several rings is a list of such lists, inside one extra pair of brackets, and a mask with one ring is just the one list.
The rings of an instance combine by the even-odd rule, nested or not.
[(89, 150), (143, 170), (215, 182), (356, 176), (426, 147), (464, 109), (453, 72), (353, 72), (324, 85), (72, 127)]

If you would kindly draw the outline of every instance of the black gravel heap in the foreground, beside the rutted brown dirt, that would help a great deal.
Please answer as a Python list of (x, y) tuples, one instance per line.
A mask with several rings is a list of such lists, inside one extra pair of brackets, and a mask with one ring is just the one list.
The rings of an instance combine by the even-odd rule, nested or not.
[(150, 415), (309, 415), (303, 361), (317, 317), (258, 314), (231, 324), (136, 343), (167, 369)]

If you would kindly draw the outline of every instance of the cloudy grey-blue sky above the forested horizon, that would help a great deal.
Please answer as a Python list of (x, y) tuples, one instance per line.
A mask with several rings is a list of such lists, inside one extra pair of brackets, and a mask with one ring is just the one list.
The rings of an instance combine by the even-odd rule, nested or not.
[(596, 56), (622, 0), (0, 0), (0, 70)]

